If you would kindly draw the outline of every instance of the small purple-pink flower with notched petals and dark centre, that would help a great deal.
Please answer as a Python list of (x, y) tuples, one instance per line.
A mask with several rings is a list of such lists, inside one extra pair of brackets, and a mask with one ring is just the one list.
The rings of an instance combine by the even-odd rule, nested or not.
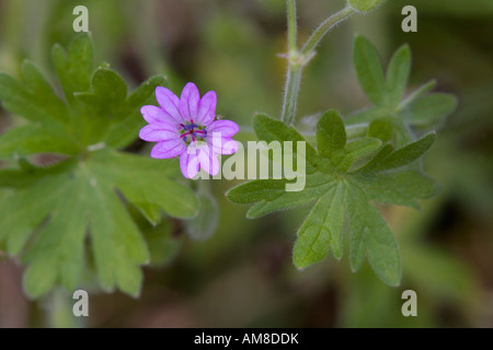
[(216, 119), (217, 96), (209, 91), (202, 98), (194, 83), (187, 83), (181, 97), (167, 88), (156, 89), (160, 107), (144, 106), (140, 112), (149, 125), (139, 137), (158, 142), (150, 153), (156, 159), (180, 155), (180, 167), (192, 178), (200, 167), (210, 175), (219, 172), (217, 154), (233, 154), (238, 143), (232, 137), (239, 127), (230, 120)]

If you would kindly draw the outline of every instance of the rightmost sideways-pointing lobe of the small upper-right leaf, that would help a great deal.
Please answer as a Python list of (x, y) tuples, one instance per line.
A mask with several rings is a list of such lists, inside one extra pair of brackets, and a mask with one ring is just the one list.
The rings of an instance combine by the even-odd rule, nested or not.
[(415, 100), (405, 106), (401, 117), (414, 127), (431, 127), (438, 125), (457, 107), (454, 95), (434, 93)]

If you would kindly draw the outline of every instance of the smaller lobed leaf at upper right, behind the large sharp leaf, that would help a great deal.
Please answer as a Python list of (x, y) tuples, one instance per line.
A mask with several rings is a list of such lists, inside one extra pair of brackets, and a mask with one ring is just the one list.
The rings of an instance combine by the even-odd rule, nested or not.
[(456, 109), (454, 95), (429, 93), (435, 88), (434, 81), (403, 98), (411, 72), (411, 49), (408, 45), (400, 47), (392, 56), (387, 73), (375, 47), (360, 35), (355, 38), (353, 59), (359, 84), (372, 106), (349, 116), (346, 125), (368, 122), (374, 131), (377, 128), (375, 122), (378, 122), (380, 130), (387, 125), (381, 140), (391, 140), (401, 147), (414, 139), (414, 130), (429, 130)]

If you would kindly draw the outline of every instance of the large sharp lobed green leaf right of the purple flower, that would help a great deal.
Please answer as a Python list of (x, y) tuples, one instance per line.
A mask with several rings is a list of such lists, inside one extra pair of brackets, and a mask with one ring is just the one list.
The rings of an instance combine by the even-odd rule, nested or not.
[[(276, 126), (271, 128), (271, 141), (299, 141), (299, 133), (283, 122), (265, 115), (254, 117), (257, 135), (265, 135), (264, 128), (270, 125)], [(322, 260), (329, 250), (341, 259), (347, 220), (353, 270), (359, 269), (366, 257), (382, 281), (398, 285), (402, 273), (398, 244), (372, 203), (417, 208), (417, 199), (436, 194), (436, 184), (415, 164), (434, 141), (435, 133), (429, 133), (398, 150), (371, 137), (347, 142), (343, 119), (337, 112), (329, 110), (317, 125), (318, 153), (307, 152), (307, 162), (314, 171), (307, 173), (303, 190), (286, 191), (286, 178), (259, 179), (230, 189), (227, 197), (253, 205), (249, 218), (316, 201), (298, 231), (295, 266), (306, 268)], [(311, 145), (307, 149), (313, 150)], [(358, 164), (362, 159), (366, 163)]]

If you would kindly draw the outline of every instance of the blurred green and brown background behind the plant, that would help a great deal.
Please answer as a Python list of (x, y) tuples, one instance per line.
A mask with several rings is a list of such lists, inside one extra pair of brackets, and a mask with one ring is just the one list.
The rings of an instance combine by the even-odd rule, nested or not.
[[(96, 60), (138, 85), (164, 73), (180, 93), (194, 81), (218, 94), (217, 113), (248, 130), (254, 112), (278, 116), (286, 51), (284, 0), (0, 0), (0, 70), (19, 75), (30, 58), (53, 77), (49, 49), (73, 36), (72, 9), (89, 9)], [(401, 9), (419, 11), (419, 32), (401, 31)], [(343, 0), (298, 1), (300, 39)], [(229, 203), (232, 182), (214, 182), (220, 213), (215, 234), (191, 240), (186, 224), (151, 228), (141, 218), (153, 267), (140, 299), (94, 291), (89, 327), (492, 327), (493, 326), (493, 2), (390, 0), (335, 28), (306, 70), (299, 115), (330, 107), (348, 115), (368, 105), (352, 67), (363, 33), (387, 61), (403, 43), (413, 51), (411, 88), (436, 78), (455, 93), (458, 110), (438, 132), (426, 168), (439, 196), (415, 211), (382, 207), (404, 261), (400, 288), (368, 266), (352, 273), (332, 258), (298, 272), (291, 265), (296, 229), (309, 208), (246, 220)], [(310, 127), (310, 118), (299, 118)], [(0, 109), (0, 132), (18, 122)], [(128, 151), (148, 154), (136, 142)], [(188, 228), (190, 229), (190, 228)], [(169, 240), (159, 240), (165, 234)], [(23, 296), (22, 268), (0, 253), (0, 327), (71, 326), (71, 300), (57, 292)], [(88, 287), (91, 289), (91, 287)], [(401, 294), (417, 293), (417, 317), (403, 317)]]

